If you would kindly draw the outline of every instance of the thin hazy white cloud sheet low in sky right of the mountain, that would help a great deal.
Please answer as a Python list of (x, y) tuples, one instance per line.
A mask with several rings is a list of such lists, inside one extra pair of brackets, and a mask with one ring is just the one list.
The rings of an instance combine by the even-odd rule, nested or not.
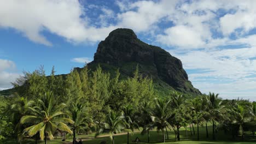
[[(256, 46), (252, 38), (229, 40), (228, 44), (248, 44), (239, 49), (179, 50), (169, 52), (181, 59), (184, 68), (194, 70), (189, 80), (201, 92), (217, 92), (223, 98), (256, 101)], [(252, 43), (249, 43), (249, 42)]]

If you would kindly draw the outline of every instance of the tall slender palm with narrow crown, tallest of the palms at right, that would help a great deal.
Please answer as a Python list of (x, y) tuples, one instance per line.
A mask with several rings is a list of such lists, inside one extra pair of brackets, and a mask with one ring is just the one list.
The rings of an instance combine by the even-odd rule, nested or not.
[(222, 100), (218, 98), (219, 94), (209, 93), (208, 106), (210, 119), (212, 121), (212, 139), (215, 140), (215, 129), (216, 121), (222, 117), (222, 110), (224, 105), (222, 105)]

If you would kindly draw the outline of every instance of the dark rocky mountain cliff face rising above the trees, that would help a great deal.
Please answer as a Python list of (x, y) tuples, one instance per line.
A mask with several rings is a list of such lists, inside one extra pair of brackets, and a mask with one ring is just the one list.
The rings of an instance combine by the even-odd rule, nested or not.
[(155, 87), (162, 93), (176, 89), (192, 95), (201, 94), (188, 81), (182, 62), (158, 46), (148, 45), (139, 40), (131, 29), (118, 28), (98, 44), (94, 61), (89, 68), (100, 64), (104, 70), (119, 68), (123, 77), (132, 76), (136, 65), (143, 76), (153, 78)]

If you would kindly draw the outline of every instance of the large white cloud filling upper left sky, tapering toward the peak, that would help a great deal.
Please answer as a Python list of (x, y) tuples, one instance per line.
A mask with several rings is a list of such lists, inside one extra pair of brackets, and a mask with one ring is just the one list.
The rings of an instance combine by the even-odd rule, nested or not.
[(52, 45), (43, 31), (60, 35), (69, 41), (82, 43), (98, 41), (116, 27), (92, 27), (88, 25), (79, 1), (0, 1), (0, 27), (14, 28), (28, 39)]

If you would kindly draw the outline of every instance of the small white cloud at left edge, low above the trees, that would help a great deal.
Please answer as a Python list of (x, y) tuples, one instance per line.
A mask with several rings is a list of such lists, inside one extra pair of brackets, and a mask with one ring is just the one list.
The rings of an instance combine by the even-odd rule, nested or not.
[(19, 77), (18, 73), (13, 72), (15, 63), (7, 59), (0, 59), (0, 90), (11, 88), (11, 83)]

